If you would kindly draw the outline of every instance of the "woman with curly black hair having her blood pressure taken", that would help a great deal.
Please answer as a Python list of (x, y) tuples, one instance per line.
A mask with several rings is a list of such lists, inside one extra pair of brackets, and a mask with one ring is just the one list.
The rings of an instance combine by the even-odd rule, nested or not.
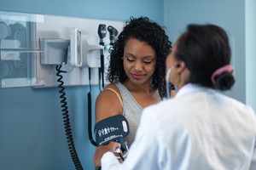
[(166, 55), (171, 42), (164, 28), (147, 17), (127, 21), (113, 44), (108, 67), (111, 82), (96, 99), (96, 122), (123, 115), (134, 140), (143, 108), (166, 98)]

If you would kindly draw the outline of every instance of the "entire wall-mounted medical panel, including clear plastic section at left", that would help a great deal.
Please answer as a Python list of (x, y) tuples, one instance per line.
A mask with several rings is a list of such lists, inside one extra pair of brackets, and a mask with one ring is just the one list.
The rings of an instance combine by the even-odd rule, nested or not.
[[(121, 31), (123, 22), (0, 11), (0, 88), (58, 86), (56, 65), (64, 86), (99, 83), (101, 54), (108, 67), (110, 35), (100, 38), (100, 25)], [(103, 45), (100, 42), (103, 41)]]

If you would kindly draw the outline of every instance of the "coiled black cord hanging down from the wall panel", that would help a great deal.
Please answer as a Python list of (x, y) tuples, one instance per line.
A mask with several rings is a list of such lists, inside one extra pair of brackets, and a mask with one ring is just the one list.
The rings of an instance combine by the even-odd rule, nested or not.
[(79, 161), (79, 156), (77, 154), (77, 151), (75, 149), (75, 145), (73, 143), (73, 134), (72, 134), (72, 128), (69, 120), (69, 115), (68, 115), (68, 108), (67, 108), (67, 98), (65, 97), (65, 88), (63, 87), (64, 82), (62, 81), (63, 76), (61, 73), (66, 73), (67, 71), (61, 71), (61, 65), (56, 65), (56, 76), (59, 77), (57, 79), (57, 82), (59, 82), (58, 88), (60, 88), (59, 93), (60, 99), (61, 99), (61, 108), (62, 108), (62, 117), (63, 117), (63, 122), (64, 122), (64, 127), (65, 127), (65, 132), (67, 136), (67, 145), (69, 149), (69, 153), (72, 157), (73, 163), (78, 170), (83, 170), (83, 167)]

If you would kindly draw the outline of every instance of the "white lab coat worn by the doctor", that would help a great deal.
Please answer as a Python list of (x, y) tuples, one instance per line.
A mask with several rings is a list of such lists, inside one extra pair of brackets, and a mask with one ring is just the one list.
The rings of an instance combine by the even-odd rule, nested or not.
[(255, 137), (251, 107), (188, 84), (144, 109), (124, 163), (108, 152), (102, 170), (255, 170)]

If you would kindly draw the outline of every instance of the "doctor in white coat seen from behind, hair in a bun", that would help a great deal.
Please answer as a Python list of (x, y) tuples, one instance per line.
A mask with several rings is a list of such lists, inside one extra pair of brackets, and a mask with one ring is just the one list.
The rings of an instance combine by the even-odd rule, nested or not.
[(255, 170), (256, 118), (252, 108), (220, 94), (235, 83), (226, 32), (189, 25), (166, 60), (174, 99), (144, 109), (136, 139), (123, 163), (111, 142), (94, 161), (105, 169)]

